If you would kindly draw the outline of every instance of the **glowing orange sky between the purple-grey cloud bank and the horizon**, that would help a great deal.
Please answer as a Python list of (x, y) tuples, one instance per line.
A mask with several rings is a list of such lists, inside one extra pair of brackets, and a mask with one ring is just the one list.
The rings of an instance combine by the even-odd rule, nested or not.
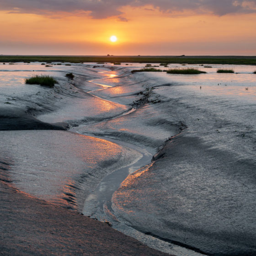
[(152, 6), (119, 11), (121, 17), (97, 19), (81, 11), (0, 11), (0, 54), (256, 55), (255, 13), (170, 14)]

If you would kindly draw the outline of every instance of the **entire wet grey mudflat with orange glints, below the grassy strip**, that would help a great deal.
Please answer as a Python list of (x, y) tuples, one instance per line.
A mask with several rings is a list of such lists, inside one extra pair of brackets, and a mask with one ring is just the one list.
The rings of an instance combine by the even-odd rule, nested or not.
[(134, 67), (78, 64), (73, 81), (58, 67), (53, 90), (2, 86), (3, 255), (164, 255), (109, 225), (179, 256), (256, 254), (254, 67), (221, 77), (219, 66)]

